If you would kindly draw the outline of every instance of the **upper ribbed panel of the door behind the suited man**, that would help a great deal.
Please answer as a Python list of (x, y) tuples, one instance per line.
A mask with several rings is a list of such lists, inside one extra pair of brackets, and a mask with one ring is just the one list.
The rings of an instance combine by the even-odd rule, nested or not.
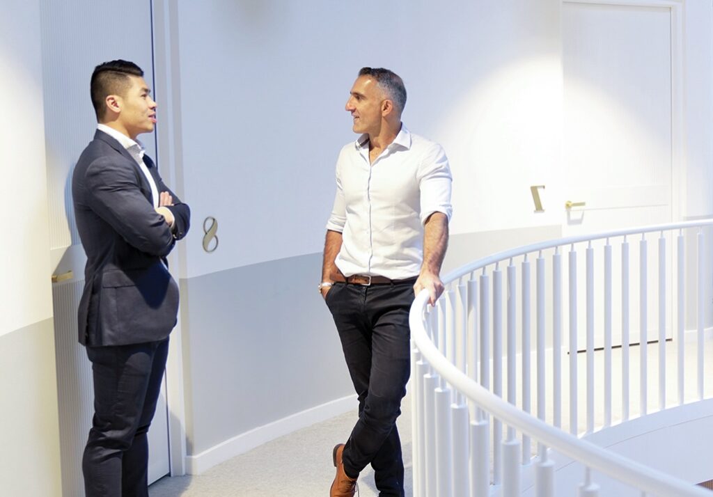
[[(43, 98), (47, 150), (47, 202), (50, 247), (77, 245), (71, 195), (71, 172), (96, 128), (89, 79), (98, 63), (124, 58), (138, 63), (153, 85), (150, 2), (116, 4), (91, 0), (41, 0)], [(113, 26), (131, 26), (131, 35)], [(155, 156), (155, 135), (144, 135)]]

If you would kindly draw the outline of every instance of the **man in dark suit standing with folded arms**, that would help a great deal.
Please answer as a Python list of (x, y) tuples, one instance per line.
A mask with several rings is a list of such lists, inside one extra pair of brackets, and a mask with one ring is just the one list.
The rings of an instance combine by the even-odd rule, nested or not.
[(88, 497), (148, 496), (146, 433), (178, 313), (165, 257), (188, 232), (190, 210), (136, 141), (156, 123), (143, 71), (120, 60), (97, 66), (91, 98), (98, 130), (72, 178), (87, 255), (79, 342), (94, 379), (84, 483)]

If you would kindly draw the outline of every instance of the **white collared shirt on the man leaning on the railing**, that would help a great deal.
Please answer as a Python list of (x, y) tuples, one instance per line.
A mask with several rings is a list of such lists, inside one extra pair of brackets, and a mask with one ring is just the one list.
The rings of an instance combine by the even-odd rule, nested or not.
[(342, 148), (337, 195), (327, 230), (342, 233), (336, 264), (344, 276), (403, 280), (419, 275), (424, 222), (434, 212), (451, 219), (451, 170), (441, 145), (406, 126), (369, 163), (369, 136)]

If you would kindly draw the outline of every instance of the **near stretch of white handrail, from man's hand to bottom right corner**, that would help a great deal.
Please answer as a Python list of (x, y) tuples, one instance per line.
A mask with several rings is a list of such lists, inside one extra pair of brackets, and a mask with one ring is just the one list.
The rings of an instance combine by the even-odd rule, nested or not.
[[(520, 411), (516, 406), (491, 394), (490, 391), (484, 389), (476, 381), (468, 378), (466, 374), (463, 374), (451, 364), (441, 352), (438, 352), (438, 349), (434, 347), (428, 334), (426, 334), (423, 323), (423, 309), (426, 307), (428, 297), (428, 291), (421, 290), (411, 307), (411, 315), (409, 316), (411, 338), (416, 343), (416, 347), (419, 348), (421, 354), (431, 364), (431, 367), (441, 374), (449, 384), (465, 394), (468, 399), (476, 401), (481, 409), (485, 409), (496, 418), (501, 419), (524, 434), (532, 436), (551, 449), (570, 456), (576, 461), (584, 461), (588, 467), (640, 488), (642, 491), (655, 495), (679, 497), (711, 496), (711, 493), (704, 488), (691, 486), (690, 483), (679, 478), (654, 471), (641, 463), (555, 429), (544, 421)], [(418, 312), (419, 309), (421, 312)]]

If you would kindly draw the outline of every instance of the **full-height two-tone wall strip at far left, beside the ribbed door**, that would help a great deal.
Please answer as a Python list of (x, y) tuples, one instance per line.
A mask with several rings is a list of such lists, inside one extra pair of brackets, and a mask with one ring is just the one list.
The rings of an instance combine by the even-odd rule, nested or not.
[(61, 495), (39, 3), (0, 16), (0, 493)]

